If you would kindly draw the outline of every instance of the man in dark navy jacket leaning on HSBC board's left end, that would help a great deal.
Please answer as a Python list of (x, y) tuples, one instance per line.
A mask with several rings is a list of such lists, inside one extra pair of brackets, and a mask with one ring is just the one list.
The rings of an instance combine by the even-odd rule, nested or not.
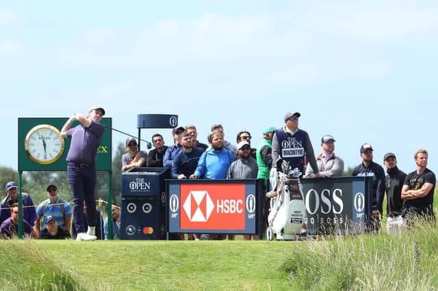
[(179, 135), (179, 143), (183, 150), (173, 160), (171, 176), (174, 179), (187, 179), (194, 174), (203, 149), (193, 147), (192, 135), (188, 131)]

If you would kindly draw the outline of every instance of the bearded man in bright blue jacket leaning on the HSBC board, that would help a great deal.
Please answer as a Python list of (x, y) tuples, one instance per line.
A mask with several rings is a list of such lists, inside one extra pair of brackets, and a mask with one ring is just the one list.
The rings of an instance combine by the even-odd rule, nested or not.
[(220, 131), (213, 131), (208, 136), (212, 150), (203, 152), (199, 158), (198, 166), (191, 179), (225, 179), (228, 168), (234, 161), (233, 153), (224, 148), (224, 134)]

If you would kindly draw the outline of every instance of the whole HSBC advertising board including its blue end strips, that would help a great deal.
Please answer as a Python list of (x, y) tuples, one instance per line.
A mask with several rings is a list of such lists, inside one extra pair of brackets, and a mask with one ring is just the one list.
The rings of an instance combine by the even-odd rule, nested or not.
[(200, 181), (169, 181), (170, 232), (255, 234), (256, 180)]

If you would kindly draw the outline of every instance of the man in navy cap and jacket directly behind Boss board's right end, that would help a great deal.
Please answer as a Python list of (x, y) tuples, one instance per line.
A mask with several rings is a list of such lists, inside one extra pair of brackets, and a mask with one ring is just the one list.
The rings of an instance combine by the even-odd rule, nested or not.
[(378, 232), (381, 228), (380, 215), (383, 213), (383, 198), (385, 197), (385, 171), (381, 165), (372, 161), (372, 146), (363, 143), (361, 146), (362, 163), (352, 170), (351, 176), (372, 177), (372, 228)]

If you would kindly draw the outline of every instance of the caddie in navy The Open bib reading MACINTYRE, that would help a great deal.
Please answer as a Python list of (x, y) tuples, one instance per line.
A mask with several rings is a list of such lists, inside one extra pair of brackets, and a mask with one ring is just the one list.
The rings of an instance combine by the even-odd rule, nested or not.
[(315, 154), (309, 134), (298, 128), (299, 112), (285, 114), (285, 126), (279, 128), (272, 137), (272, 167), (276, 167), (276, 160), (283, 158), (292, 169), (298, 168), (304, 174), (305, 156), (309, 159), (312, 169), (317, 177), (322, 177), (318, 171)]

